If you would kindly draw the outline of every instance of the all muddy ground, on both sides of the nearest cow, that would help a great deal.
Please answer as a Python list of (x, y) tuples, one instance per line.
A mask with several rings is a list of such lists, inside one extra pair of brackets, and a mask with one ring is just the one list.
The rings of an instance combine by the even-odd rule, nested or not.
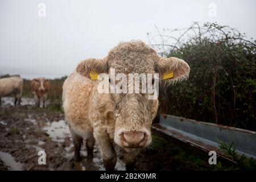
[[(63, 111), (34, 106), (31, 98), (23, 98), (21, 106), (13, 106), (12, 98), (3, 98), (0, 107), (0, 170), (104, 170), (98, 146), (92, 163), (86, 161), (85, 145), (82, 161), (73, 161), (73, 143)], [(142, 150), (137, 170), (212, 170), (207, 161), (186, 154), (181, 148), (152, 135), (151, 146)], [(119, 148), (116, 147), (119, 151)], [(46, 152), (46, 165), (38, 164), (38, 152)], [(125, 170), (118, 152), (116, 170)], [(217, 166), (220, 167), (220, 166)], [(222, 168), (220, 168), (222, 169)]]

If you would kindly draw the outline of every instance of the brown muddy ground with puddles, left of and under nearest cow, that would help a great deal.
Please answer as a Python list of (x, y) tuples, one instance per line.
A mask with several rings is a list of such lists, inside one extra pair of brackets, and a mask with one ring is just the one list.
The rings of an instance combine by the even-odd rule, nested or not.
[[(63, 112), (38, 108), (30, 98), (13, 106), (12, 98), (3, 98), (0, 111), (0, 170), (104, 170), (98, 146), (93, 163), (86, 163), (82, 147), (81, 163), (73, 162), (73, 143)], [(46, 165), (38, 164), (38, 152), (46, 152)], [(125, 169), (118, 160), (118, 170)]]

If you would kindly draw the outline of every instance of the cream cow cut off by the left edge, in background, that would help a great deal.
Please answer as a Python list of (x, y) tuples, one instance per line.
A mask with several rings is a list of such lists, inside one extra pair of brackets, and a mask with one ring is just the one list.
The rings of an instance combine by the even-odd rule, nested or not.
[(0, 79), (0, 105), (1, 97), (14, 94), (14, 105), (20, 105), (23, 89), (23, 80), (20, 76), (12, 76)]

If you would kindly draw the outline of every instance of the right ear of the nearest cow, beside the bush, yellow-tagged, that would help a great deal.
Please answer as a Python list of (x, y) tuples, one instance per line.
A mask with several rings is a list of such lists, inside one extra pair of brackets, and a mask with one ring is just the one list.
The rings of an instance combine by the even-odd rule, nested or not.
[(159, 57), (156, 70), (159, 73), (159, 79), (167, 85), (187, 79), (190, 72), (189, 65), (177, 57)]

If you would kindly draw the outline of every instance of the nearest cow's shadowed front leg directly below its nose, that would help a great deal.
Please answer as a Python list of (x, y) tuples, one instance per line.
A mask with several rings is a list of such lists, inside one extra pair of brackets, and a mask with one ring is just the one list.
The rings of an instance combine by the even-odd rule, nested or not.
[(133, 171), (135, 162), (139, 154), (139, 149), (127, 149), (123, 151), (123, 161), (127, 171)]

